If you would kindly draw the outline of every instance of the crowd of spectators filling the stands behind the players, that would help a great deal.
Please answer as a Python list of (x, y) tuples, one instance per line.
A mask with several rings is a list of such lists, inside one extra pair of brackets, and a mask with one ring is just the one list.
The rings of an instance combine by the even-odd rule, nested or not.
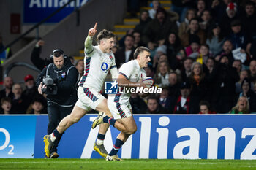
[[(136, 47), (151, 50), (148, 77), (162, 93), (140, 98), (132, 93), (134, 114), (215, 114), (256, 112), (255, 0), (172, 0), (170, 10), (152, 1), (140, 11), (140, 23), (118, 40), (116, 65), (132, 60)], [(131, 9), (132, 4), (129, 6)], [(132, 17), (135, 11), (130, 11)], [(43, 41), (31, 52), (39, 69)], [(54, 47), (53, 47), (54, 48)], [(83, 61), (75, 67), (83, 75)], [(2, 114), (47, 113), (36, 77), (24, 77), (26, 89), (4, 78)]]

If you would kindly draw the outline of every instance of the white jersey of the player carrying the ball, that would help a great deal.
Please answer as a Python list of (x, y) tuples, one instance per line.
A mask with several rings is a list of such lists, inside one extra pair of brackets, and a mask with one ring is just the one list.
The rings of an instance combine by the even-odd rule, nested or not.
[[(118, 73), (124, 75), (130, 82), (140, 82), (141, 79), (146, 78), (146, 72), (143, 68), (140, 68), (137, 60), (128, 61), (121, 65)], [(117, 93), (108, 95), (108, 100), (111, 100), (110, 103), (113, 105), (117, 103), (127, 105), (129, 104), (130, 96), (131, 93)]]

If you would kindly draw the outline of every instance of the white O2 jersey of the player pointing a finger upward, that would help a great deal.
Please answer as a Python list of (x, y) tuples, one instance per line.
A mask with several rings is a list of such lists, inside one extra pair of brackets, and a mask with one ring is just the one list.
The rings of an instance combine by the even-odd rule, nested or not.
[(87, 54), (86, 48), (84, 51), (84, 72), (78, 85), (93, 88), (99, 92), (102, 90), (108, 70), (110, 70), (112, 77), (118, 74), (115, 56), (113, 52), (103, 53), (99, 46), (93, 46), (93, 50)]

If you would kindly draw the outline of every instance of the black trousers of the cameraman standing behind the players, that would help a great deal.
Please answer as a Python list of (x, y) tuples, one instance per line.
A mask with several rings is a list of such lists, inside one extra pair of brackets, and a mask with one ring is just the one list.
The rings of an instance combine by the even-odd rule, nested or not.
[[(69, 115), (72, 112), (73, 107), (61, 107), (58, 104), (48, 101), (48, 129), (47, 133), (51, 134), (59, 125), (61, 120)], [(50, 150), (50, 153), (57, 152), (57, 147), (60, 139), (56, 139), (53, 148)]]

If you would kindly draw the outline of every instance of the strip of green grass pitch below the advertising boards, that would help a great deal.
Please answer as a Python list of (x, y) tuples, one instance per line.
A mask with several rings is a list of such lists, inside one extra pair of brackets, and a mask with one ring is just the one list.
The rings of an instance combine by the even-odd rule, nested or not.
[(256, 169), (256, 160), (21, 159), (1, 158), (0, 169)]

